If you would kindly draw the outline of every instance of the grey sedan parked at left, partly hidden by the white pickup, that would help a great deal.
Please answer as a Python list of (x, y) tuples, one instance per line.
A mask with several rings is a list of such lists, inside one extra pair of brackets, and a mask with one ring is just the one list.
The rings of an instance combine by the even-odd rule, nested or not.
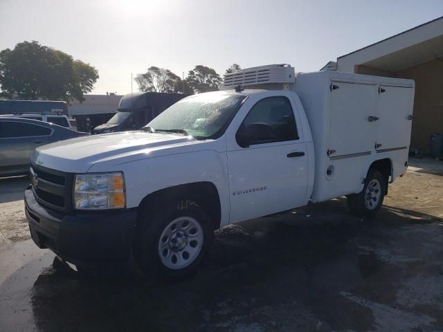
[(28, 173), (36, 147), (87, 135), (39, 120), (0, 116), (0, 176)]

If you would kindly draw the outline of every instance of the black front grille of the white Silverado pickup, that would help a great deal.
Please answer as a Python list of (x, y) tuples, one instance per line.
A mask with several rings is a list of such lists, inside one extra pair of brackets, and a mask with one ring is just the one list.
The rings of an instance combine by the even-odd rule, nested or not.
[(30, 175), (37, 202), (53, 210), (72, 212), (73, 174), (33, 164)]

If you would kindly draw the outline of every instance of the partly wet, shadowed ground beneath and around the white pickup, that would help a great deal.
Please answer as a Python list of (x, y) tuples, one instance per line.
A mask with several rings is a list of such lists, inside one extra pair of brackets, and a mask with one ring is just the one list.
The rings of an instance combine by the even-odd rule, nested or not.
[(0, 331), (443, 331), (443, 163), (410, 160), (376, 219), (344, 198), (217, 231), (179, 284), (78, 278), (0, 179)]

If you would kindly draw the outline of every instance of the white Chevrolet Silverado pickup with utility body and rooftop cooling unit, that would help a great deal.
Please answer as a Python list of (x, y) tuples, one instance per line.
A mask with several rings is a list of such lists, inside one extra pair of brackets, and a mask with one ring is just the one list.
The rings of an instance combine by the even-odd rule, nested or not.
[(80, 270), (134, 257), (180, 279), (230, 223), (338, 196), (374, 216), (406, 172), (413, 96), (412, 80), (288, 65), (225, 75), (142, 131), (39, 147), (30, 232)]

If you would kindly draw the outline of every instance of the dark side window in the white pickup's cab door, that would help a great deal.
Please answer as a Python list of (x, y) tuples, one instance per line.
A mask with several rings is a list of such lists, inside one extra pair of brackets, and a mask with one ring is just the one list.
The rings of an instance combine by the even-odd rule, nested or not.
[(235, 137), (241, 147), (298, 140), (291, 102), (286, 97), (260, 100), (249, 111)]

